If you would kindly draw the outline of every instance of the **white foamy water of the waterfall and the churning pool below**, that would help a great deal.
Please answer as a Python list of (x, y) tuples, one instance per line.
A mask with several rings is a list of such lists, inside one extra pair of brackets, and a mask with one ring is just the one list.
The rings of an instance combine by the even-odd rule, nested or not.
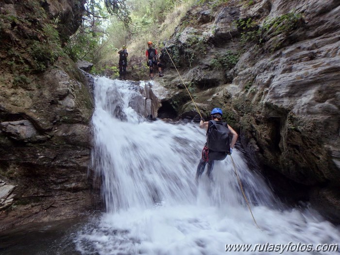
[(96, 80), (92, 161), (102, 178), (106, 213), (78, 233), (74, 242), (81, 254), (279, 254), (225, 252), (225, 245), (340, 243), (339, 228), (313, 210), (285, 209), (238, 150), (232, 156), (260, 229), (229, 156), (215, 163), (212, 182), (203, 174), (197, 186), (204, 130), (197, 123), (146, 121), (129, 107), (138, 90), (123, 81)]

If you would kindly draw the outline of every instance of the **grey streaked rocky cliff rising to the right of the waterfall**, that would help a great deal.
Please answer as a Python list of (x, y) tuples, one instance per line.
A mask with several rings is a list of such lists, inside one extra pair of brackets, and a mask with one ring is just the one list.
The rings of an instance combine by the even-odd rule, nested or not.
[[(297, 199), (309, 199), (334, 221), (340, 221), (339, 20), (338, 0), (208, 2), (193, 7), (166, 43), (204, 115), (221, 107), (265, 174), (288, 177), (304, 191)], [(172, 109), (193, 117), (166, 52), (162, 60)]]

